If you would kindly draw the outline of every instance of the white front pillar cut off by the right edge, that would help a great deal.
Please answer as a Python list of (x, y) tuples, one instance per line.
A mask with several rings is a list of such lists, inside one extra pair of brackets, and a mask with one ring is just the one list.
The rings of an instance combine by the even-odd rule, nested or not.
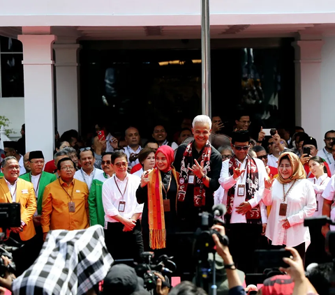
[[(335, 36), (324, 37), (321, 63), (321, 132), (322, 139), (328, 130), (335, 130)], [(323, 142), (322, 142), (322, 145)], [(320, 149), (320, 148), (319, 148)]]

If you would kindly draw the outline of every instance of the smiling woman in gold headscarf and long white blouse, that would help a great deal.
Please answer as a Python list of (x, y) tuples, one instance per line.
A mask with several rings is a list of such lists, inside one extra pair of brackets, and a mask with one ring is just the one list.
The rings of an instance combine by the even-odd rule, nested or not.
[(304, 167), (295, 153), (282, 153), (278, 158), (278, 177), (265, 179), (262, 201), (271, 206), (265, 236), (272, 248), (293, 247), (304, 260), (311, 243), (304, 219), (316, 209), (315, 193), (306, 180)]

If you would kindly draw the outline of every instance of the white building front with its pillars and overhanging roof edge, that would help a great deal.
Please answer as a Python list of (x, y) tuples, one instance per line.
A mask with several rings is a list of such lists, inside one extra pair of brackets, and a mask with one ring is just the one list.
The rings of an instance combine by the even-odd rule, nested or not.
[[(212, 39), (295, 38), (295, 123), (323, 145), (324, 133), (335, 129), (335, 2), (211, 0), (210, 13)], [(25, 123), (27, 151), (42, 149), (50, 160), (55, 121), (59, 133), (80, 129), (80, 41), (192, 40), (200, 33), (194, 0), (4, 1), (0, 35), (22, 42), (24, 98), (0, 97), (0, 115), (15, 133)]]

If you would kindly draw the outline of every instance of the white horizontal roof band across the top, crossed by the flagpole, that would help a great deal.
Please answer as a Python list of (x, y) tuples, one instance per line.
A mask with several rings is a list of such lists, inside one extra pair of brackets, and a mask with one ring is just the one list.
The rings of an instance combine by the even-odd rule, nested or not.
[[(335, 1), (211, 0), (210, 12), (211, 24), (334, 23)], [(200, 0), (0, 1), (0, 27), (181, 24), (200, 24)]]

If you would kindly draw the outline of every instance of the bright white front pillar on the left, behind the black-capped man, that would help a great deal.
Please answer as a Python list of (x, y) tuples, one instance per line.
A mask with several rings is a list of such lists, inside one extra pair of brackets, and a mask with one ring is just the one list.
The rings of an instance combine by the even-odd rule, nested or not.
[(54, 35), (20, 35), (23, 44), (26, 150), (41, 150), (45, 160), (54, 151)]

